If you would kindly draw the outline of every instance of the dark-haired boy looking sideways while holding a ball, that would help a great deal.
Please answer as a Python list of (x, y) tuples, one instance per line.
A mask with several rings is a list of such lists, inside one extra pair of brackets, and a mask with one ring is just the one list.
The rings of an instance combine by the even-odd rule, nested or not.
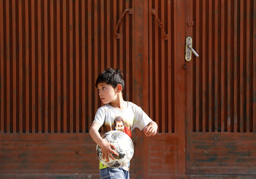
[[(102, 159), (109, 161), (109, 157), (114, 159), (112, 155), (118, 156), (114, 151), (115, 146), (105, 142), (98, 132), (100, 127), (104, 129), (104, 133), (115, 130), (114, 120), (118, 116), (122, 117), (123, 123), (126, 123), (130, 131), (138, 127), (147, 137), (156, 134), (156, 123), (139, 106), (123, 100), (122, 91), (125, 83), (121, 71), (107, 69), (98, 76), (95, 86), (105, 105), (97, 110), (89, 133), (94, 142), (101, 147)], [(109, 168), (100, 162), (100, 175), (101, 178), (129, 178), (129, 167), (127, 164), (120, 168)]]

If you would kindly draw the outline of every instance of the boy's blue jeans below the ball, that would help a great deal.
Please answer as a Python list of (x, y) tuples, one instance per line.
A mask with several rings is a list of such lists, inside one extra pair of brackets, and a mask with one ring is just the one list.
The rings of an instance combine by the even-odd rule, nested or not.
[(129, 171), (120, 168), (100, 169), (101, 179), (129, 179)]

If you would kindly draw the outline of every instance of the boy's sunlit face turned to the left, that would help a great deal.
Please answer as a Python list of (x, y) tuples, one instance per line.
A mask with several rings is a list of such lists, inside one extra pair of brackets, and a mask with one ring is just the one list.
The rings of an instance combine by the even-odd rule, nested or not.
[(106, 83), (98, 83), (98, 95), (104, 104), (111, 103), (117, 99), (115, 88)]

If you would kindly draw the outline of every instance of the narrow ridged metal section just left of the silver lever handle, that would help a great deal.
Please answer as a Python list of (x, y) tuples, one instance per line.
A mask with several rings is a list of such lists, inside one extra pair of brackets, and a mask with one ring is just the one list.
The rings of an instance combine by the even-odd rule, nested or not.
[[(176, 87), (176, 11), (173, 1), (150, 0), (149, 6), (149, 86), (150, 117), (156, 120), (160, 133), (176, 132), (175, 87)], [(150, 12), (154, 10), (155, 15)], [(168, 35), (164, 40), (158, 18)]]

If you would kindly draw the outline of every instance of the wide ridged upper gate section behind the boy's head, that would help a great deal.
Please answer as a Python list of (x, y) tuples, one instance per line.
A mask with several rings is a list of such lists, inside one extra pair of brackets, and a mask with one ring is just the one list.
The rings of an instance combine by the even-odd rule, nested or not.
[(87, 133), (95, 80), (119, 68), (133, 99), (132, 1), (0, 1), (0, 132)]

